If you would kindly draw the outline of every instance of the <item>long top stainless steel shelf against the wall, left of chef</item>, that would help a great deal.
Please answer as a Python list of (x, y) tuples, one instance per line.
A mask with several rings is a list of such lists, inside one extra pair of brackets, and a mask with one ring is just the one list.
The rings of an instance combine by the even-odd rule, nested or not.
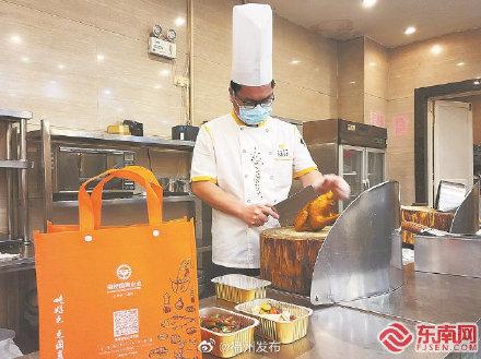
[[(166, 149), (177, 149), (177, 151), (192, 151), (195, 142), (193, 141), (180, 141), (180, 140), (169, 140), (157, 136), (132, 136), (132, 135), (120, 135), (120, 134), (109, 134), (103, 132), (87, 132), (87, 131), (75, 131), (75, 130), (60, 130), (50, 129), (51, 140), (68, 140), (73, 142), (109, 142), (118, 144), (130, 144), (136, 146), (151, 146)], [(28, 132), (28, 137), (34, 140), (40, 140), (40, 131)]]

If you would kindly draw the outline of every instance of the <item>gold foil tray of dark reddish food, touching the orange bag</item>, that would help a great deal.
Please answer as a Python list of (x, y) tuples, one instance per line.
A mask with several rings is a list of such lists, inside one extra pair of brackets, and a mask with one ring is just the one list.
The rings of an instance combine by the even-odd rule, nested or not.
[(216, 307), (203, 308), (199, 314), (201, 318), (211, 314), (231, 314), (239, 319), (243, 325), (247, 325), (234, 333), (215, 333), (201, 327), (202, 352), (210, 352), (219, 358), (232, 358), (254, 347), (254, 332), (259, 325), (258, 320)]

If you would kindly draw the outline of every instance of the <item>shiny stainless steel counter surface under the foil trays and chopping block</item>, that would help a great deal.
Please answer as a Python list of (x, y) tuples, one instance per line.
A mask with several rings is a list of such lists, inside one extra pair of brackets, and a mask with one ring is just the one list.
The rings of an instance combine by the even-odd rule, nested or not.
[[(420, 322), (481, 323), (481, 279), (460, 276), (414, 272), (413, 264), (403, 268), (403, 286), (390, 295), (383, 295), (337, 306), (315, 308), (309, 320), (307, 336), (279, 352), (245, 352), (238, 359), (375, 359), (392, 358), (377, 340), (377, 334), (391, 322), (402, 322), (412, 333)], [(306, 306), (305, 298), (268, 290), (268, 297)], [(233, 304), (214, 297), (201, 301), (201, 307)], [(256, 342), (262, 342), (256, 338)], [(267, 342), (268, 343), (268, 342)], [(23, 357), (36, 359), (35, 355)], [(204, 359), (213, 359), (204, 355)], [(481, 358), (481, 352), (470, 356), (456, 354), (421, 354), (410, 345), (396, 358)]]

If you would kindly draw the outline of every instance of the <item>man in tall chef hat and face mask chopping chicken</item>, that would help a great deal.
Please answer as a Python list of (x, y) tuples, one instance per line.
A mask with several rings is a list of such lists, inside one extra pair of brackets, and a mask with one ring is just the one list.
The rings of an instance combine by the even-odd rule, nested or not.
[[(349, 196), (340, 177), (322, 176), (297, 130), (271, 117), (272, 10), (249, 3), (233, 9), (232, 111), (204, 123), (193, 148), (193, 193), (212, 206), (215, 275), (259, 274), (259, 234), (279, 226), (272, 205), (288, 198), (292, 180)], [(293, 99), (295, 100), (295, 99)]]

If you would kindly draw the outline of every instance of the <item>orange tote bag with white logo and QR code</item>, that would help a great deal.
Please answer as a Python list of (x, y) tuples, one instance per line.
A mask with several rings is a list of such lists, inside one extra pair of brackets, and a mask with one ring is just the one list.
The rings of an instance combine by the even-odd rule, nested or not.
[[(162, 222), (162, 188), (142, 167), (101, 178), (79, 191), (79, 226), (35, 234), (40, 359), (200, 359), (192, 222)], [(102, 227), (114, 178), (144, 188), (149, 224)]]

